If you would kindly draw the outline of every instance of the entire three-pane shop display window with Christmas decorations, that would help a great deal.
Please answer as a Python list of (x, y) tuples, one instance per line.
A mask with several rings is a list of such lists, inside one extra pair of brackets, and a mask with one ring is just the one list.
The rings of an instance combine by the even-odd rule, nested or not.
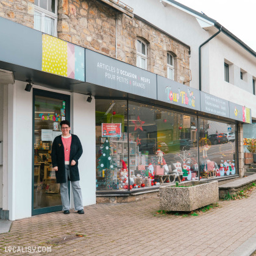
[(97, 190), (142, 190), (175, 180), (235, 175), (235, 134), (232, 123), (97, 99)]

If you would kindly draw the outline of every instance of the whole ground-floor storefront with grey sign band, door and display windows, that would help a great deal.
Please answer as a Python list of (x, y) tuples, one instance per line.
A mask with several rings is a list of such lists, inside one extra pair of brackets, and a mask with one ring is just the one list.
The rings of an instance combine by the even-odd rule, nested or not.
[(4, 218), (61, 210), (51, 145), (63, 119), (84, 147), (84, 205), (157, 189), (174, 172), (183, 182), (239, 175), (249, 108), (0, 19), (0, 69), (15, 79), (1, 85)]

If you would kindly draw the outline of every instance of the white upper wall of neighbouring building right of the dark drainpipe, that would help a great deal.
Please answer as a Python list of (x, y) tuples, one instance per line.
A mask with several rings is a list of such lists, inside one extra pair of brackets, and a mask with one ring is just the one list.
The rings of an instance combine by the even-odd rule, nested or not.
[[(252, 118), (256, 118), (256, 96), (252, 94), (252, 76), (256, 76), (256, 58), (245, 54), (238, 44), (225, 43), (223, 37), (214, 38), (210, 41), (209, 47), (210, 64), (209, 67), (202, 65), (202, 73), (206, 68), (208, 69), (210, 84), (208, 85), (208, 81), (202, 79), (202, 90), (206, 91), (208, 87), (210, 94), (239, 105), (246, 105), (252, 110)], [(229, 83), (224, 80), (226, 60), (233, 63), (229, 66)], [(244, 80), (240, 79), (240, 68), (247, 71)]]

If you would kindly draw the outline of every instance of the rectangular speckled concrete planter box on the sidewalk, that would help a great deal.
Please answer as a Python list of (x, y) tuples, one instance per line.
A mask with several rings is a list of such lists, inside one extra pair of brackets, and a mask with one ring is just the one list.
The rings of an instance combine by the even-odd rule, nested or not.
[(160, 209), (175, 212), (191, 212), (219, 201), (218, 181), (187, 182), (185, 186), (169, 185), (160, 187)]

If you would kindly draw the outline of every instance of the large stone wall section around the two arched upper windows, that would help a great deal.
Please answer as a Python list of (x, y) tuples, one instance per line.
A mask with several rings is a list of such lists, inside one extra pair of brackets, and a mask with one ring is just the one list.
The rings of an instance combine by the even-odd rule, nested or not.
[(174, 80), (190, 80), (186, 46), (99, 0), (59, 0), (58, 36), (134, 66), (139, 37), (148, 43), (148, 71), (166, 77), (169, 51), (175, 56)]

